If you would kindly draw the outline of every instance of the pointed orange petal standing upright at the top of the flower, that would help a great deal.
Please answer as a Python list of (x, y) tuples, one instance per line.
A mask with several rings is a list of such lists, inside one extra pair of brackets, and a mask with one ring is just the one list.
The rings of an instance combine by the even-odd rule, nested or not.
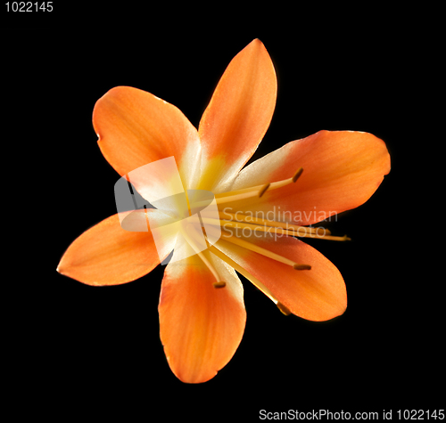
[(276, 94), (273, 63), (255, 39), (229, 63), (202, 115), (202, 190), (219, 191), (219, 183), (251, 158), (268, 129)]

